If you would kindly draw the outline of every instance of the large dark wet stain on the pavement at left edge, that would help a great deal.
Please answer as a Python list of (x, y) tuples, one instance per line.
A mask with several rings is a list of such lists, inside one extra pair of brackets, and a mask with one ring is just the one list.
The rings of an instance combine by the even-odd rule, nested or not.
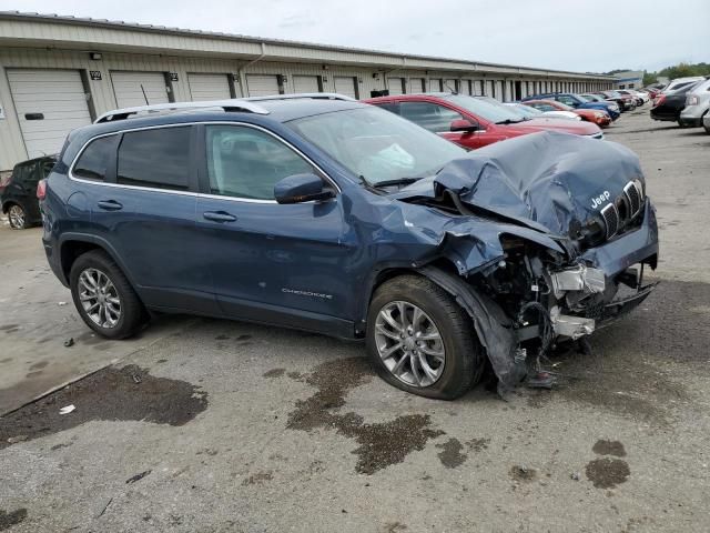
[[(59, 414), (70, 404), (77, 410)], [(186, 381), (155, 378), (133, 364), (109, 366), (3, 416), (0, 450), (8, 439), (33, 440), (92, 420), (183, 425), (206, 408), (207, 394)]]

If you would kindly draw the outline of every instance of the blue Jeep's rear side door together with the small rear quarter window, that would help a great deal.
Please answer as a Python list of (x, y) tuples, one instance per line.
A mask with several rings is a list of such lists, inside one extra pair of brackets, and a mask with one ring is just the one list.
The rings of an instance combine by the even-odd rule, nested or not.
[(92, 141), (71, 177), (81, 180), (91, 233), (110, 243), (143, 301), (219, 314), (195, 230), (194, 127), (126, 131)]

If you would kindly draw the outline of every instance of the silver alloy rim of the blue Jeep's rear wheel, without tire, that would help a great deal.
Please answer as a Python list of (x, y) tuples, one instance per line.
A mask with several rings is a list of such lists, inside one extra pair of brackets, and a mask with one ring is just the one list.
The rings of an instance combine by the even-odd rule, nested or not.
[(79, 274), (79, 301), (87, 315), (100, 328), (115, 328), (121, 320), (121, 298), (111, 279), (98, 269)]

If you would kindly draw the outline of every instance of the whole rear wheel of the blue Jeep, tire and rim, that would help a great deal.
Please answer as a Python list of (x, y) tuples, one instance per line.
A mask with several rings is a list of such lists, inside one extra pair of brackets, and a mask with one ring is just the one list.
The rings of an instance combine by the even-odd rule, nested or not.
[[(109, 283), (105, 283), (106, 280)], [(94, 290), (92, 293), (90, 281), (98, 282), (99, 288), (103, 285), (105, 290)], [(143, 303), (125, 274), (103, 250), (80, 255), (72, 264), (69, 283), (77, 311), (87, 325), (101, 336), (125, 339), (134, 335), (145, 322)], [(101, 309), (101, 302), (104, 310)], [(94, 304), (99, 308), (90, 313)]]

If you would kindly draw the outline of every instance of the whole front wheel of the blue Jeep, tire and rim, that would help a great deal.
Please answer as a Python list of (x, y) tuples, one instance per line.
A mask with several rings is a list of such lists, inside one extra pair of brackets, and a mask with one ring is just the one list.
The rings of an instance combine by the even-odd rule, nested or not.
[[(412, 324), (417, 309), (424, 313), (418, 325)], [(414, 335), (409, 336), (413, 331), (407, 332), (406, 328), (395, 328), (385, 314), (400, 325), (402, 322), (415, 325)], [(417, 330), (426, 340), (417, 343)], [(404, 341), (400, 335), (397, 339), (399, 331), (404, 331)], [(432, 339), (436, 333), (438, 336)], [(367, 313), (366, 344), (371, 362), (383, 380), (426, 398), (460, 398), (480, 380), (485, 368), (483, 350), (468, 314), (440, 286), (418, 275), (402, 275), (377, 288)], [(402, 348), (397, 349), (397, 344)], [(381, 352), (392, 352), (392, 355), (383, 356)], [(424, 370), (422, 359), (436, 376)], [(412, 361), (415, 361), (414, 368)]]

